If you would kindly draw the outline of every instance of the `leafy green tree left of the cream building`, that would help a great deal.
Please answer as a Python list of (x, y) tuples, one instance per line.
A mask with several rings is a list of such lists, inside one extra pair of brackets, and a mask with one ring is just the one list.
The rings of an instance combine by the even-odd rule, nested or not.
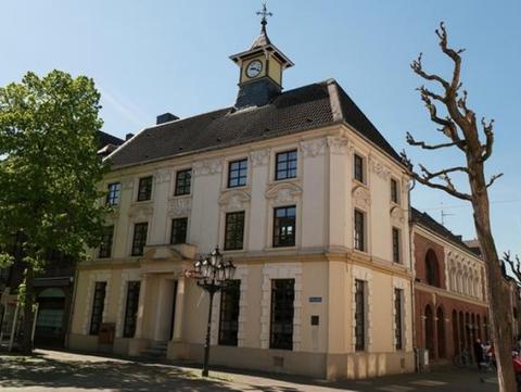
[(46, 256), (81, 260), (101, 238), (100, 109), (92, 79), (60, 71), (29, 72), (0, 88), (0, 261), (12, 262), (7, 250), (16, 241), (25, 263), (24, 353), (33, 349), (34, 279), (50, 263)]

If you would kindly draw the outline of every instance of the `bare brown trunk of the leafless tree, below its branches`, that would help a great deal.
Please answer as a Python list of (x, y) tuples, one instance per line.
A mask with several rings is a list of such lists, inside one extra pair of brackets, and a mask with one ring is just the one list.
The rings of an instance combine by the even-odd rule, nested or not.
[[(471, 184), (472, 186), (473, 184)], [(475, 190), (475, 184), (473, 185)], [(478, 188), (480, 189), (480, 188)], [(481, 188), (483, 189), (483, 188)], [(490, 224), (488, 197), (485, 191), (476, 191), (472, 200), (474, 225), (478, 232), (488, 288), (490, 324), (492, 327), (494, 353), (497, 361), (497, 377), (500, 392), (516, 392), (516, 374), (512, 365), (512, 318), (510, 299), (504, 283), (504, 277), (492, 237)]]

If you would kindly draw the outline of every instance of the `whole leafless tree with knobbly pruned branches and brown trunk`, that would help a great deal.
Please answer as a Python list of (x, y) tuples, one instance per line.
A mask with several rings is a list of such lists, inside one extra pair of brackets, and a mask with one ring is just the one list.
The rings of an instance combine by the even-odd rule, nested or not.
[[(419, 54), (410, 66), (422, 79), (434, 83), (441, 87), (436, 93), (424, 86), (418, 88), (421, 100), (429, 111), (431, 121), (440, 126), (437, 129), (448, 141), (440, 144), (428, 144), (424, 141), (416, 140), (407, 132), (407, 142), (410, 146), (423, 150), (457, 149), (465, 156), (466, 164), (430, 170), (419, 165), (420, 170), (416, 172), (405, 152), (404, 161), (408, 164), (410, 175), (418, 182), (434, 189), (441, 189), (448, 194), (472, 203), (474, 225), (478, 232), (483, 257), (486, 265), (488, 304), (491, 315), (491, 327), (497, 358), (497, 371), (499, 390), (501, 392), (513, 392), (516, 390), (516, 377), (512, 367), (511, 343), (512, 325), (510, 309), (508, 308), (508, 292), (503, 284), (503, 275), (497, 255), (496, 245), (492, 236), (490, 202), (487, 189), (503, 174), (485, 178), (485, 162), (492, 155), (494, 144), (494, 121), (476, 121), (475, 113), (468, 106), (468, 93), (461, 89), (461, 53), (463, 49), (452, 49), (447, 43), (447, 31), (443, 22), (436, 29), (440, 38), (440, 48), (453, 62), (454, 69), (450, 79), (445, 79), (436, 74), (428, 73), (422, 65), (422, 55)], [(444, 109), (445, 114), (439, 113), (439, 108)], [(458, 190), (452, 176), (462, 174), (467, 177), (470, 186), (470, 193)]]

